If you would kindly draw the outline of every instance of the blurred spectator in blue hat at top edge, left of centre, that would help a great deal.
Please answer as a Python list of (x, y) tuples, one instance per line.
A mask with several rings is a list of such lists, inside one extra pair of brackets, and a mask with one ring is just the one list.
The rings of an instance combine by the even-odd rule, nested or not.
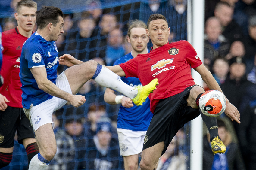
[(101, 2), (99, 0), (87, 0), (85, 2), (85, 6), (86, 11), (91, 14), (92, 18), (95, 20), (96, 25), (98, 25), (103, 12)]

